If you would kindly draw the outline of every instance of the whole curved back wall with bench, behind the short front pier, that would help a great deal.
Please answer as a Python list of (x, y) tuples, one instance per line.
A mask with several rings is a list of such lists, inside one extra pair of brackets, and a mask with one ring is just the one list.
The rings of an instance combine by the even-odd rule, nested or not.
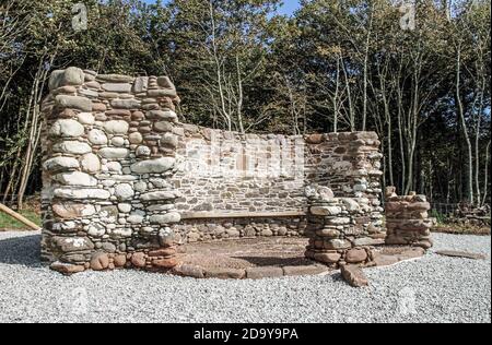
[(375, 133), (242, 135), (183, 124), (180, 134), (177, 152), (186, 162), (174, 185), (181, 192), (183, 219), (175, 230), (184, 241), (303, 236), (304, 188), (313, 182), (354, 198), (367, 211), (354, 217), (356, 225), (380, 230), (382, 155)]

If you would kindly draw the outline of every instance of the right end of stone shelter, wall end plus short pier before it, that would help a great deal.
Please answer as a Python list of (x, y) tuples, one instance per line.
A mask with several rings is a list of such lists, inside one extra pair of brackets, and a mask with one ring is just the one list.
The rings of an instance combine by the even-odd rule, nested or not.
[(372, 247), (386, 236), (377, 135), (330, 133), (308, 142), (306, 257), (332, 266), (372, 262)]

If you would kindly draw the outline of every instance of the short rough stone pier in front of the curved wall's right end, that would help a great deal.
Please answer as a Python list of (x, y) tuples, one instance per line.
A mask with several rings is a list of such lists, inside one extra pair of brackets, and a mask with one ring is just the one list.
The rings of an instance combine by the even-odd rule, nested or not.
[(367, 264), (373, 260), (373, 246), (384, 239), (372, 235), (356, 219), (366, 216), (365, 210), (351, 198), (335, 198), (327, 187), (308, 186), (307, 236), (309, 245), (306, 257), (330, 266), (344, 263)]

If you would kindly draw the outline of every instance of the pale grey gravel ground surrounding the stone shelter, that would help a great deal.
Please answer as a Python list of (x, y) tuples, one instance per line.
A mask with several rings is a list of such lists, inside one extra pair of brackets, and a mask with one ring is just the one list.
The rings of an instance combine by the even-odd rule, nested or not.
[(339, 274), (265, 281), (181, 278), (137, 271), (71, 277), (40, 265), (39, 234), (0, 233), (0, 322), (491, 322), (491, 237), (436, 234), (438, 249), (365, 270), (371, 287)]

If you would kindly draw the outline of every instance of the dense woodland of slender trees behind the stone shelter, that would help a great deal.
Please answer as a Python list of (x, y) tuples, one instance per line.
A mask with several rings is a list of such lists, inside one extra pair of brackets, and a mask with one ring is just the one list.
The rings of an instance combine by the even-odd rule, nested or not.
[[(289, 1), (289, 0), (286, 0)], [(0, 0), (0, 202), (40, 190), (54, 69), (169, 75), (183, 121), (241, 132), (376, 131), (384, 185), (490, 203), (490, 0)]]

